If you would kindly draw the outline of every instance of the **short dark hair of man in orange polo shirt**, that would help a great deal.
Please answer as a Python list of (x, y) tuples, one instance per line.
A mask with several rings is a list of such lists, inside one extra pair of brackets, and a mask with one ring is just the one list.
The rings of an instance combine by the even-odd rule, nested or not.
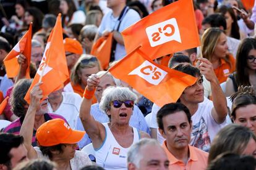
[(164, 131), (163, 118), (165, 116), (176, 113), (177, 111), (184, 111), (187, 116), (187, 121), (189, 121), (189, 123), (191, 122), (191, 114), (186, 105), (182, 103), (168, 103), (160, 108), (160, 110), (157, 112), (156, 118), (158, 127)]

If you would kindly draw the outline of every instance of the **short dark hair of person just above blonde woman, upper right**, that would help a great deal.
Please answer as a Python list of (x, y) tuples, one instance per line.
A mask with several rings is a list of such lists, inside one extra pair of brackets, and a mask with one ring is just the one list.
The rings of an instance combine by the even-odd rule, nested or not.
[(223, 26), (223, 29), (226, 30), (227, 29), (227, 23), (225, 18), (223, 17), (223, 15), (221, 14), (211, 14), (208, 15), (207, 17), (205, 17), (203, 19), (202, 25), (205, 24), (209, 24), (211, 25), (211, 27), (220, 27)]

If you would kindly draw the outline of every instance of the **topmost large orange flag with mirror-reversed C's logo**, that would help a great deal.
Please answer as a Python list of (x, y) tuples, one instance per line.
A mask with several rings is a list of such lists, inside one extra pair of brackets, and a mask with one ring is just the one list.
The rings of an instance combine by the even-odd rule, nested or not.
[(200, 46), (192, 1), (173, 2), (122, 31), (126, 52), (141, 45), (140, 50), (153, 60)]

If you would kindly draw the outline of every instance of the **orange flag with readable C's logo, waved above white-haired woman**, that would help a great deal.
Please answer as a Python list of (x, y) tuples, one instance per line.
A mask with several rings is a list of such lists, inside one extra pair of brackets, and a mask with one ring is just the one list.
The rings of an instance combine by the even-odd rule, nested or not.
[(197, 80), (193, 76), (151, 62), (138, 48), (109, 68), (109, 71), (159, 107), (176, 102), (184, 89)]

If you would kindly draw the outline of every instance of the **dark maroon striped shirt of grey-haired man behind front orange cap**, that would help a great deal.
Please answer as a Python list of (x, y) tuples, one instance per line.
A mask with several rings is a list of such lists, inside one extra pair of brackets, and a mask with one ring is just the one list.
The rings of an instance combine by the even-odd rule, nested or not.
[[(45, 113), (45, 121), (51, 120), (51, 119), (56, 119), (56, 118), (60, 118), (60, 119), (64, 119), (64, 121), (66, 121), (65, 118), (63, 118), (60, 115), (55, 115), (52, 113)], [(5, 127), (3, 132), (7, 132), (7, 133), (12, 133), (12, 134), (20, 134), (20, 127), (22, 126), (22, 122), (23, 119), (15, 119), (15, 121), (12, 121), (11, 124), (9, 124), (9, 126)], [(67, 121), (66, 121), (67, 123)], [(33, 129), (33, 137), (32, 137), (32, 145), (33, 147), (37, 146), (37, 142), (35, 139), (35, 134), (36, 134), (36, 129)]]

